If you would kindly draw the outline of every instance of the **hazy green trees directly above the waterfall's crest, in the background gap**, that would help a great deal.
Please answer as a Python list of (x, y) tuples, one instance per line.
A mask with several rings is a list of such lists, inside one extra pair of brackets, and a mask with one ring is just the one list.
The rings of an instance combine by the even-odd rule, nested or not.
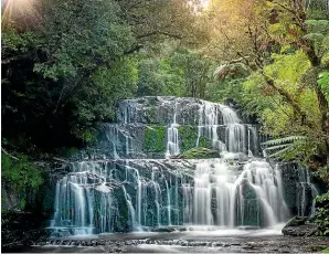
[(185, 47), (171, 49), (159, 57), (140, 61), (138, 96), (167, 95), (205, 97), (206, 85), (211, 81), (212, 61)]

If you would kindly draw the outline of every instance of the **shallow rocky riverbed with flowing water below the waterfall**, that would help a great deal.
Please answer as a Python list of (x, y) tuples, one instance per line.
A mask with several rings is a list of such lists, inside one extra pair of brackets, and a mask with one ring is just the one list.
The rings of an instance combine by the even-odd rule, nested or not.
[(32, 253), (305, 253), (321, 252), (329, 237), (284, 236), (273, 230), (126, 233), (50, 239)]

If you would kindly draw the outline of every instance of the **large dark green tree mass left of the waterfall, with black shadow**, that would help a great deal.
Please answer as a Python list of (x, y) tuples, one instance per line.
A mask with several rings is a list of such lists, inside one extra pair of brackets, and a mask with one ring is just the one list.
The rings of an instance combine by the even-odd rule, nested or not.
[(136, 94), (131, 28), (114, 1), (52, 0), (41, 14), (31, 31), (3, 31), (3, 134), (22, 131), (43, 149), (82, 146)]

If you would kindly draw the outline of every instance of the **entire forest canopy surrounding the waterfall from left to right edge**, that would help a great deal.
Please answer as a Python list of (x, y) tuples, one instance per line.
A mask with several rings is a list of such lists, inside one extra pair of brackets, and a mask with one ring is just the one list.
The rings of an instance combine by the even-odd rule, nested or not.
[(4, 1), (2, 144), (28, 154), (82, 147), (114, 120), (120, 99), (188, 96), (233, 103), (274, 139), (264, 145), (270, 156), (326, 174), (328, 8), (328, 0)]

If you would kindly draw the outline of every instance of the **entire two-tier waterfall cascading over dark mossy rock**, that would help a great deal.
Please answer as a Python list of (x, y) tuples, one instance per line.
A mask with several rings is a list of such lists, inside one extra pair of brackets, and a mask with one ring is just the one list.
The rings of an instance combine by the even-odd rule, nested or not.
[[(189, 134), (194, 139), (184, 128), (194, 131)], [(88, 150), (95, 152), (93, 160), (68, 163), (70, 173), (56, 182), (55, 233), (264, 227), (289, 216), (280, 168), (253, 157), (261, 154), (255, 126), (242, 124), (225, 105), (174, 97), (128, 99), (118, 106), (117, 124), (102, 131), (98, 147)], [(195, 148), (204, 140), (220, 158), (170, 159), (187, 144)]]

